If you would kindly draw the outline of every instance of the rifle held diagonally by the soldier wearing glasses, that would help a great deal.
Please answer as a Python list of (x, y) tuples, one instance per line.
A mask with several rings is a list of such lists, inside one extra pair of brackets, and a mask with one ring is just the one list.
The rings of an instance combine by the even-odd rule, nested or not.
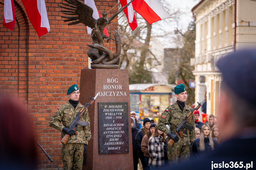
[[(96, 94), (96, 96), (94, 98), (90, 97), (91, 98), (91, 101), (89, 103), (86, 103), (85, 106), (77, 113), (77, 116), (76, 118), (73, 120), (73, 122), (69, 125), (69, 129), (73, 129), (74, 131), (76, 131), (76, 126), (77, 125), (81, 125), (81, 126), (88, 126), (89, 123), (88, 121), (87, 122), (82, 122), (80, 121), (80, 118), (82, 117), (82, 115), (85, 113), (86, 109), (88, 108), (88, 106), (91, 106), (93, 104), (93, 102), (95, 101), (95, 99), (98, 97), (99, 93)], [(75, 133), (75, 135), (77, 135), (77, 131)], [(61, 143), (63, 143), (64, 145), (67, 144), (68, 142), (68, 139), (69, 139), (69, 136), (68, 134), (66, 134), (62, 140), (61, 140)]]

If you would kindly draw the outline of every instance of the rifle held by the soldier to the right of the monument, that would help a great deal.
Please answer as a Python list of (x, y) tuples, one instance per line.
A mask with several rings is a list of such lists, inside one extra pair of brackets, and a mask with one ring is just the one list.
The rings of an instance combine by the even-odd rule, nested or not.
[[(206, 98), (205, 98), (205, 99), (206, 99)], [(179, 127), (176, 129), (176, 135), (179, 135), (180, 137), (183, 137), (183, 135), (182, 135), (182, 133), (181, 133), (182, 130), (183, 130), (184, 128), (189, 129), (189, 126), (187, 125), (188, 120), (189, 120), (190, 117), (193, 115), (193, 112), (194, 112), (195, 110), (198, 110), (198, 109), (202, 106), (202, 104), (204, 103), (205, 99), (203, 99), (203, 101), (202, 101), (201, 103), (198, 103), (198, 102), (197, 102), (198, 105), (196, 106), (196, 108), (194, 108), (192, 111), (189, 112), (189, 114), (187, 114), (187, 116), (183, 119), (183, 121), (181, 122), (181, 124), (179, 125)], [(171, 140), (169, 140), (168, 145), (172, 147), (173, 143), (174, 143), (174, 140), (171, 139)]]

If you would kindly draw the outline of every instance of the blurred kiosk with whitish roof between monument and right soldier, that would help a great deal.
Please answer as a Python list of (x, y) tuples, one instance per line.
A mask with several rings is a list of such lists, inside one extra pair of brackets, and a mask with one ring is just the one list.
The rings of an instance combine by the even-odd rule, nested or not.
[(136, 112), (137, 119), (151, 117), (158, 122), (163, 111), (177, 100), (173, 95), (175, 86), (163, 83), (130, 84), (131, 111)]

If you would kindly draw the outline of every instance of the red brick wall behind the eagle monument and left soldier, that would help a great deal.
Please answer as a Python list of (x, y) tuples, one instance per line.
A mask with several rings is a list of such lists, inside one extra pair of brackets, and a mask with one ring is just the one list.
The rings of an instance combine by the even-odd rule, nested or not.
[[(92, 42), (83, 24), (67, 25), (60, 17), (62, 0), (46, 0), (50, 32), (38, 38), (20, 0), (15, 4), (15, 29), (3, 27), (4, 11), (0, 12), (0, 92), (19, 97), (30, 111), (36, 140), (54, 160), (52, 163), (37, 147), (39, 169), (59, 169), (61, 133), (48, 126), (50, 117), (68, 97), (67, 88), (79, 85), (81, 69), (88, 69), (88, 46)], [(103, 1), (100, 12), (117, 4)], [(63, 1), (64, 2), (64, 1)], [(96, 7), (100, 0), (96, 1)], [(0, 0), (0, 9), (4, 0)], [(117, 11), (113, 9), (108, 17)], [(107, 27), (117, 30), (117, 19)], [(115, 51), (115, 42), (105, 43)]]

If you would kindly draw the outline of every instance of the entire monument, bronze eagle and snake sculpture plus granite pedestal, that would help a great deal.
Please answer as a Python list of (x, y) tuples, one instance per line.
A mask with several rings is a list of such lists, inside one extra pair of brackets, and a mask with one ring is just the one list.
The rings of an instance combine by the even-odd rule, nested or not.
[[(78, 0), (64, 0), (61, 6), (68, 25), (83, 23), (92, 28), (93, 43), (88, 45), (88, 56), (92, 59), (91, 68), (81, 70), (80, 103), (86, 103), (88, 96), (99, 93), (96, 101), (88, 107), (90, 116), (91, 139), (88, 142), (83, 169), (133, 169), (133, 150), (131, 136), (131, 115), (128, 70), (120, 70), (119, 55), (121, 52), (120, 35), (115, 31), (114, 38), (107, 37), (103, 30), (126, 6), (111, 17), (102, 13), (94, 19), (93, 9)], [(116, 51), (112, 53), (103, 46), (103, 40), (114, 40)]]

